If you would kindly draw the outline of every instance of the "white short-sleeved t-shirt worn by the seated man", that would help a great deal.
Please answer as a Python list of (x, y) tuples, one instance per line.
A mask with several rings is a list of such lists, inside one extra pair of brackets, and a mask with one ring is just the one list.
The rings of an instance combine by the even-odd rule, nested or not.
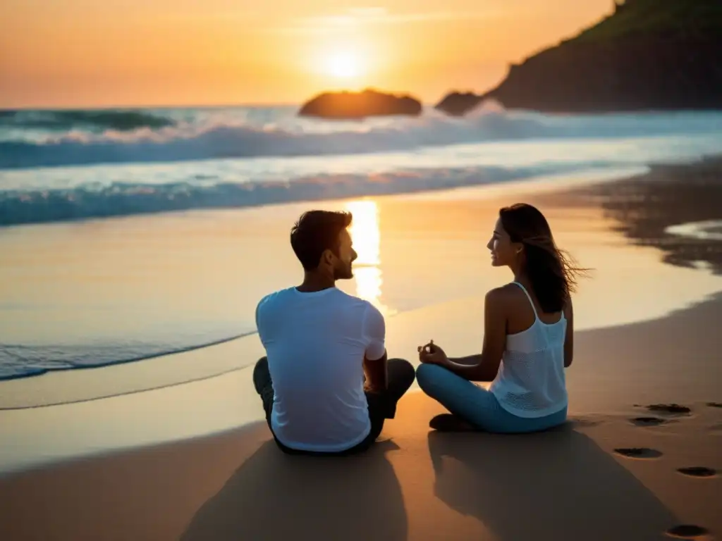
[(271, 428), (287, 447), (339, 452), (368, 436), (363, 359), (386, 352), (386, 324), (370, 302), (334, 288), (265, 296), (256, 327), (274, 387)]

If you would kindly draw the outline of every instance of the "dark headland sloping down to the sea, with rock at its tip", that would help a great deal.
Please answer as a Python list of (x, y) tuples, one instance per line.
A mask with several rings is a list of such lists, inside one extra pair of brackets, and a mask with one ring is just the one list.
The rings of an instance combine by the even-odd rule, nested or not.
[(721, 35), (719, 0), (627, 0), (576, 38), (511, 66), (495, 89), (450, 94), (437, 107), (460, 115), (493, 98), (554, 113), (722, 109)]

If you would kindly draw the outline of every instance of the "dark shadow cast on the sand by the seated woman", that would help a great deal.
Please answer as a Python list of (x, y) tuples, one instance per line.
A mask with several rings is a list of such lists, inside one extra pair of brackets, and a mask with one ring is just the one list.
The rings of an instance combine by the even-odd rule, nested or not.
[(539, 434), (432, 431), (428, 438), (435, 495), (477, 517), (497, 540), (660, 540), (677, 524), (572, 423)]

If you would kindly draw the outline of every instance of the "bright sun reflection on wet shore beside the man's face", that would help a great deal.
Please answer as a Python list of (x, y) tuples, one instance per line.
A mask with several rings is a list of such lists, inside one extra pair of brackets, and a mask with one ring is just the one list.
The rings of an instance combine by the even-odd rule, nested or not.
[(392, 315), (395, 310), (381, 302), (381, 233), (378, 206), (375, 201), (350, 201), (347, 211), (353, 214), (349, 233), (354, 242), (358, 258), (354, 263), (356, 295), (377, 307), (383, 315)]

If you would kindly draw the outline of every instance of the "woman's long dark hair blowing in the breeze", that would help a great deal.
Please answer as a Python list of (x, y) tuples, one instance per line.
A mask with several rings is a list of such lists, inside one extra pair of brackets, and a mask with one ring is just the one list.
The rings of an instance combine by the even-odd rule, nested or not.
[(560, 312), (587, 269), (575, 266), (570, 255), (557, 247), (547, 219), (536, 207), (517, 203), (501, 208), (499, 217), (512, 242), (524, 245), (524, 271), (542, 311)]

